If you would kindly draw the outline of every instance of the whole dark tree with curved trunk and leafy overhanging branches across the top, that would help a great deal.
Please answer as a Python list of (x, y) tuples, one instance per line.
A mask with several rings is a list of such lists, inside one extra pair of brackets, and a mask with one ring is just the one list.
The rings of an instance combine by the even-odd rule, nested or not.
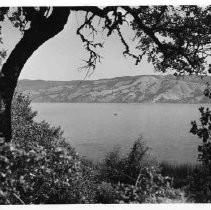
[[(209, 70), (206, 58), (210, 55), (211, 7), (198, 6), (112, 6), (112, 7), (18, 7), (1, 8), (0, 21), (8, 18), (22, 32), (22, 38), (3, 64), (0, 75), (0, 138), (11, 140), (11, 103), (20, 72), (28, 58), (43, 43), (60, 33), (70, 12), (84, 12), (84, 22), (77, 29), (89, 53), (83, 68), (95, 69), (101, 56), (95, 41), (97, 19), (107, 36), (116, 32), (125, 47), (124, 56), (138, 64), (145, 55), (156, 70), (170, 69), (178, 74), (205, 74)], [(135, 32), (135, 50), (131, 50), (123, 28)], [(91, 38), (88, 33), (89, 30)], [(0, 53), (6, 57), (4, 50)]]

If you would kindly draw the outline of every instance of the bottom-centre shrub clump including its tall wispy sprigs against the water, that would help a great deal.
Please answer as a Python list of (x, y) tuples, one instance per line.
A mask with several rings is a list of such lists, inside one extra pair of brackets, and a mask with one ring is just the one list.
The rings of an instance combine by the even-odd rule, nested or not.
[(182, 192), (170, 186), (171, 179), (147, 154), (142, 138), (134, 142), (127, 157), (114, 148), (99, 166), (97, 201), (102, 203), (159, 203), (166, 200), (185, 202)]

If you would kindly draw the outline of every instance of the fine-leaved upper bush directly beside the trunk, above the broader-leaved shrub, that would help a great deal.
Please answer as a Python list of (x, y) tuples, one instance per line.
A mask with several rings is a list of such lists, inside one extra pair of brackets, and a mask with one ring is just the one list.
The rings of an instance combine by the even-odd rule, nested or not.
[[(38, 144), (46, 149), (51, 146), (65, 146), (60, 127), (52, 127), (47, 122), (35, 122), (37, 112), (32, 111), (28, 96), (18, 94), (14, 97), (12, 108), (12, 142), (26, 151)], [(67, 145), (68, 146), (68, 145)]]

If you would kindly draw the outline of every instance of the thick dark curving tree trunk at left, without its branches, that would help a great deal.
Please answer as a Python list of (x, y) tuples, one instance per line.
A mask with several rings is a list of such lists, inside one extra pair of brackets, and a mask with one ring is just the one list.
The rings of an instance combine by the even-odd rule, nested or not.
[(11, 52), (3, 65), (0, 75), (0, 141), (10, 142), (11, 104), (21, 70), (44, 42), (63, 30), (70, 14), (70, 8), (53, 8), (52, 14), (45, 20), (33, 20), (31, 28), (24, 32), (22, 39)]

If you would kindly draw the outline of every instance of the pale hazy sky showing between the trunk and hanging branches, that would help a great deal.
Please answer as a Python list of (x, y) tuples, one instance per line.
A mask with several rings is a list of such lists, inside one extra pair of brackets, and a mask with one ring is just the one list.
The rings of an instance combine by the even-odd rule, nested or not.
[[(83, 59), (87, 53), (83, 48), (80, 37), (76, 35), (76, 28), (82, 15), (71, 13), (65, 29), (54, 38), (44, 43), (25, 64), (21, 79), (44, 80), (80, 80), (85, 72), (80, 72)], [(9, 26), (3, 27), (4, 43), (12, 49), (20, 39), (20, 34)], [(4, 29), (5, 28), (5, 29)], [(128, 34), (130, 34), (128, 32)], [(134, 60), (122, 55), (124, 48), (116, 34), (106, 38), (105, 47), (100, 50), (102, 63), (97, 65), (95, 72), (87, 79), (111, 78), (125, 75), (153, 74), (152, 64), (143, 60), (138, 66)]]

